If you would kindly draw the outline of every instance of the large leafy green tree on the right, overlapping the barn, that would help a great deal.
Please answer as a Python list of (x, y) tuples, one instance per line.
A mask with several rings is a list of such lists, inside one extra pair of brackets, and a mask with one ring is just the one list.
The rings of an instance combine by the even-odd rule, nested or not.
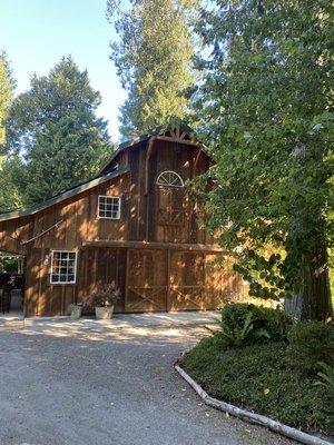
[[(325, 0), (216, 1), (199, 32), (198, 107), (218, 186), (202, 197), (212, 229), (263, 298), (299, 318), (332, 310), (333, 8)], [(202, 179), (204, 180), (204, 178)]]

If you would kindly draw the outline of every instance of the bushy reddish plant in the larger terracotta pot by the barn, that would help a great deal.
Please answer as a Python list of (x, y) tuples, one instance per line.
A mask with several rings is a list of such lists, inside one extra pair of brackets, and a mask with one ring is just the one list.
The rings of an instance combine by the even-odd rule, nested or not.
[(97, 319), (110, 319), (114, 307), (120, 298), (120, 290), (115, 281), (98, 286), (86, 299), (86, 305), (95, 308)]

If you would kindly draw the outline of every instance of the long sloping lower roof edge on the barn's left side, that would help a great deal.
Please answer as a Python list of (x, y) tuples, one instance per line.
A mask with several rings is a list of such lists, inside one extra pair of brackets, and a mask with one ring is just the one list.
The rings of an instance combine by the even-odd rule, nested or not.
[(7, 221), (9, 219), (20, 218), (22, 216), (35, 215), (38, 211), (41, 211), (50, 206), (53, 206), (55, 204), (61, 202), (65, 199), (71, 198), (82, 191), (86, 191), (94, 187), (97, 187), (100, 184), (108, 181), (109, 179), (118, 178), (119, 176), (125, 175), (128, 171), (130, 171), (129, 168), (122, 168), (122, 169), (119, 169), (116, 171), (111, 171), (109, 174), (101, 175), (97, 178), (88, 179), (87, 181), (81, 182), (78, 186), (69, 188), (65, 191), (61, 191), (60, 194), (57, 194), (57, 195), (52, 196), (51, 198), (47, 199), (46, 201), (40, 202), (31, 208), (6, 211), (3, 214), (0, 214), (0, 222)]

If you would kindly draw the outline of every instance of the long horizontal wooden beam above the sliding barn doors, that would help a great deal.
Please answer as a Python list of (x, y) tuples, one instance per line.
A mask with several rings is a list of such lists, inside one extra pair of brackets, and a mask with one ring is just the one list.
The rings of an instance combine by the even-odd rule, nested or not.
[(204, 244), (183, 244), (183, 243), (157, 243), (157, 241), (124, 241), (96, 239), (92, 241), (84, 241), (82, 247), (119, 247), (134, 249), (177, 249), (177, 250), (194, 250), (207, 253), (225, 253), (225, 249), (217, 245)]

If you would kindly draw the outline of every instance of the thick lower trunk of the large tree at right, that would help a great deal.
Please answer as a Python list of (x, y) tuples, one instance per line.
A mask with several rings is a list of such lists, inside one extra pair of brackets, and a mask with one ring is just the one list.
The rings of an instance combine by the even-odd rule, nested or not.
[(325, 320), (333, 315), (326, 244), (318, 241), (301, 264), (303, 287), (285, 299), (285, 310), (298, 320)]

